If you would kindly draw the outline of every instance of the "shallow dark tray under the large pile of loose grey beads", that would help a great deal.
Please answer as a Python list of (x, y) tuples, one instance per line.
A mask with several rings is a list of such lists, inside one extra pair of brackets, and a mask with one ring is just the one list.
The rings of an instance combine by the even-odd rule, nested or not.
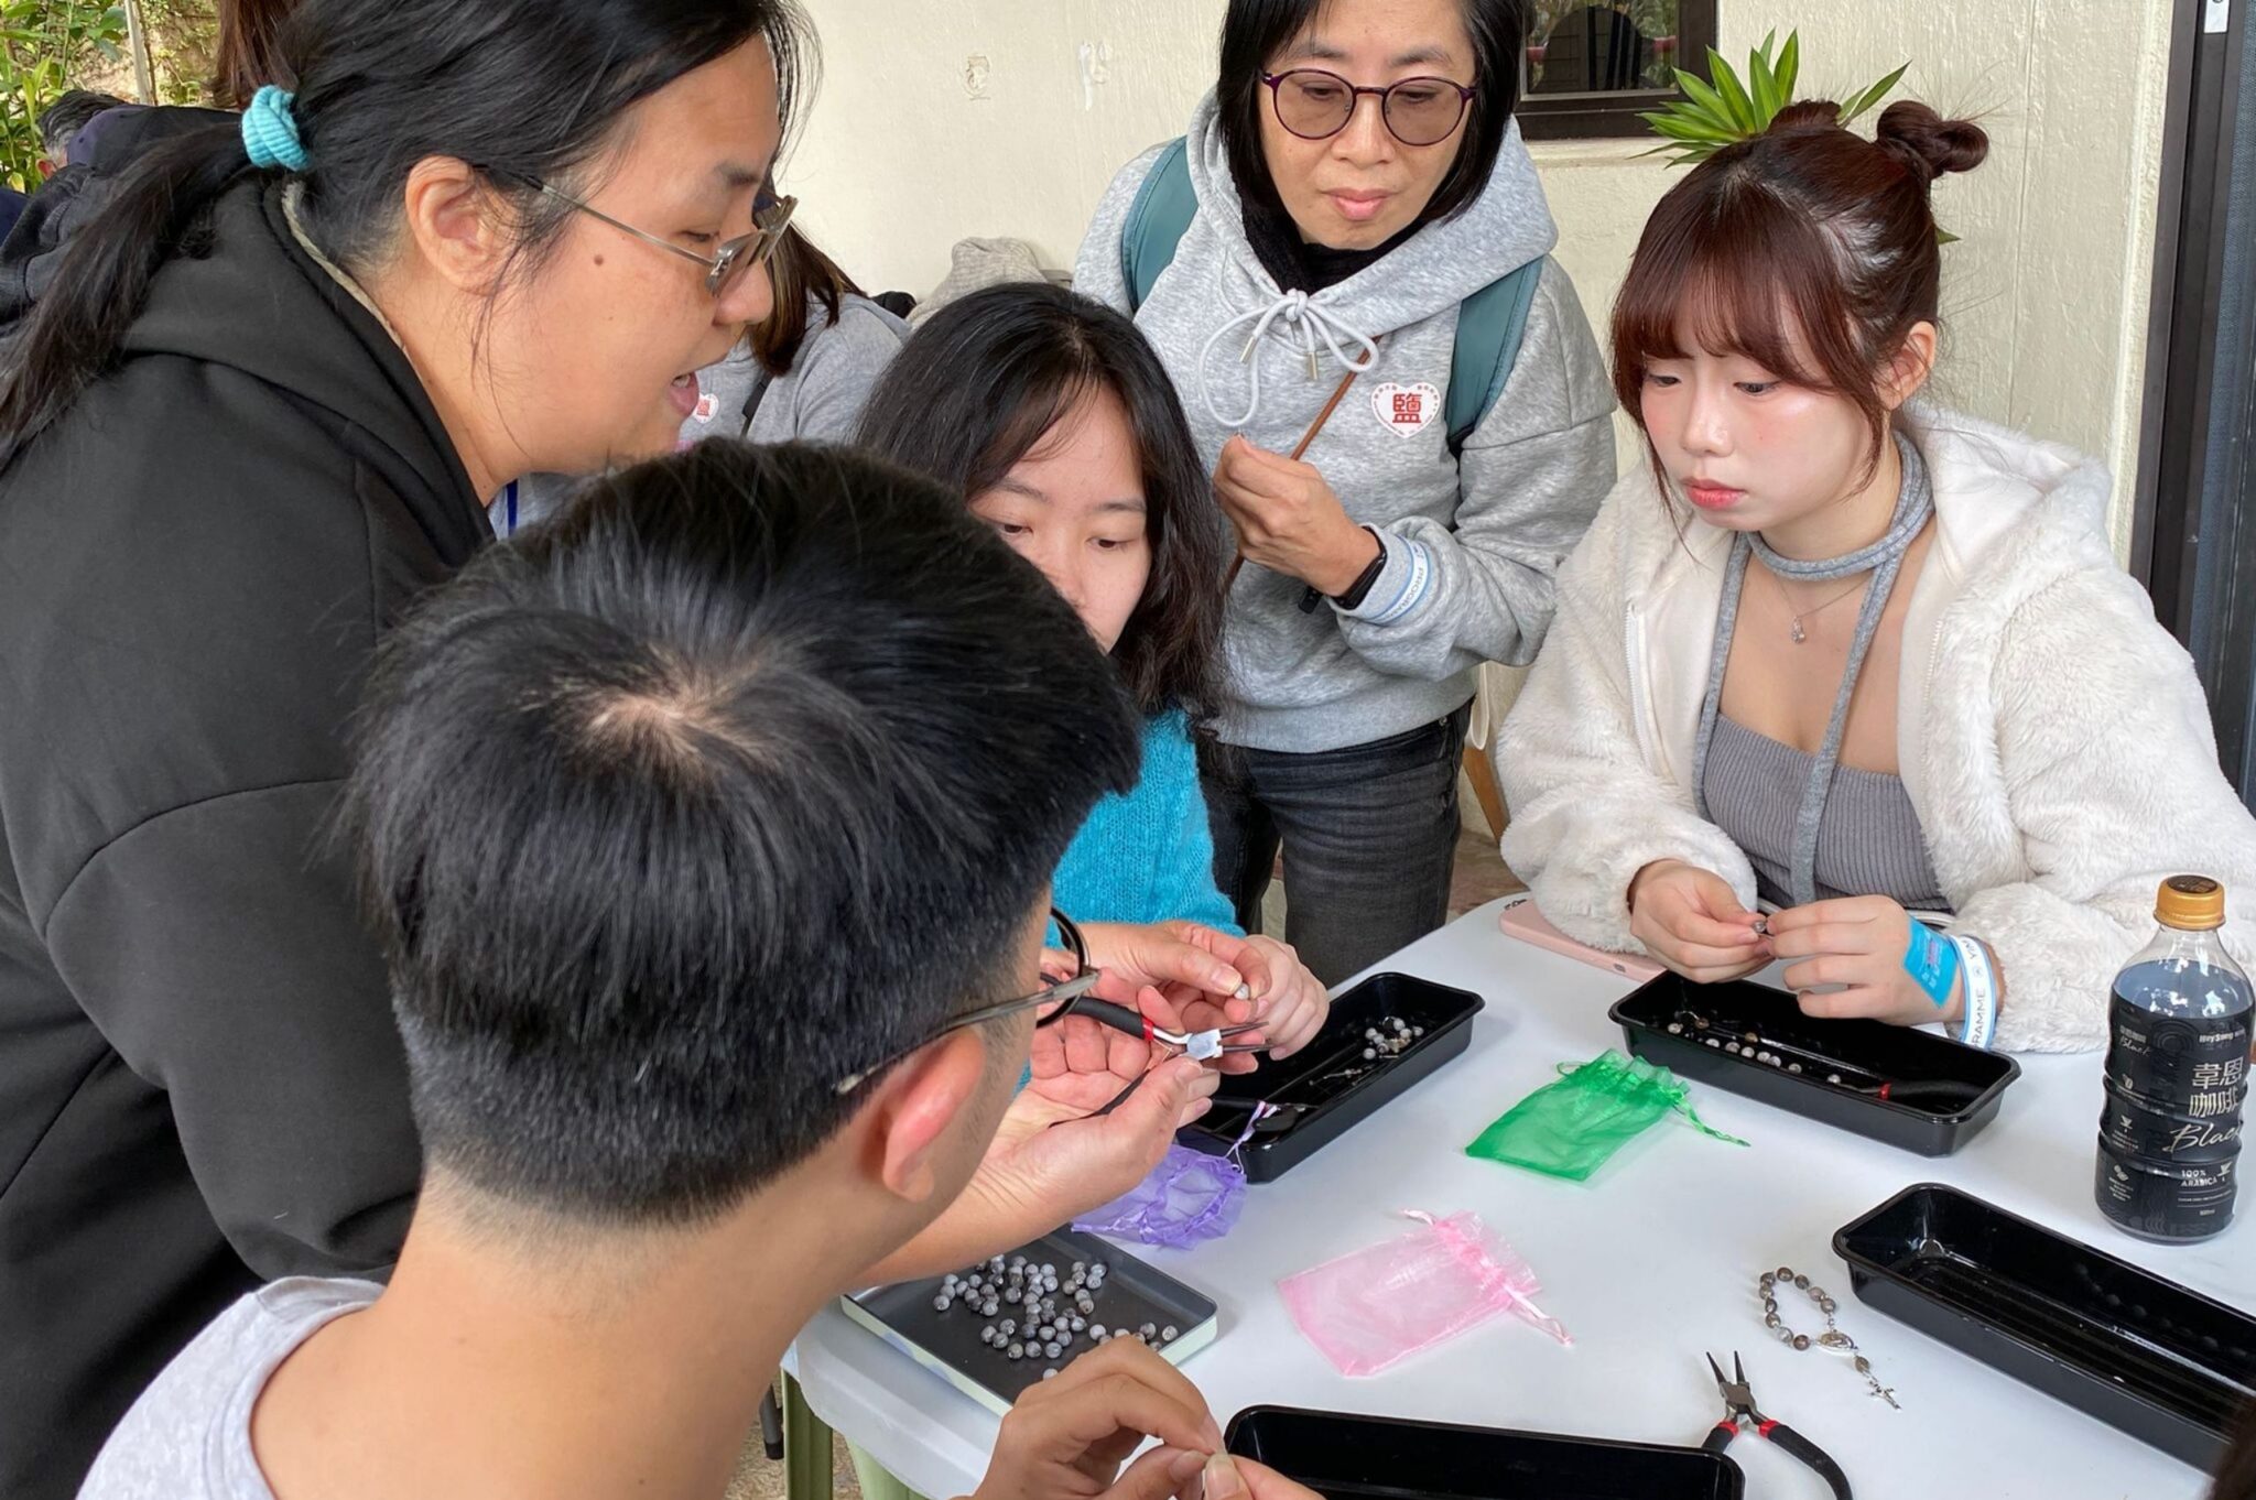
[[(1029, 1261), (1054, 1263), (1060, 1268), (1060, 1277), (1063, 1268), (1074, 1261), (1103, 1261), (1108, 1270), (1105, 1288), (1096, 1292), (1096, 1313), (1090, 1315), (1090, 1322), (1108, 1326), (1119, 1324), (1128, 1329), (1137, 1329), (1146, 1322), (1160, 1329), (1173, 1326), (1175, 1338), (1160, 1347), (1160, 1353), (1173, 1362), (1182, 1362), (1214, 1342), (1216, 1324), (1211, 1297), (1146, 1265), (1110, 1241), (1101, 1241), (1094, 1234), (1081, 1234), (1076, 1229), (1058, 1229), (1056, 1234), (1045, 1234), (1031, 1245), (1020, 1245), (1011, 1254), (1022, 1254)], [(938, 1290), (941, 1277), (878, 1286), (846, 1297), (844, 1311), (851, 1320), (871, 1329), (911, 1360), (925, 1365), (943, 1380), (986, 1405), (990, 1412), (1011, 1410), (1011, 1403), (1017, 1401), (1029, 1385), (1038, 1385), (1042, 1380), (1045, 1369), (1063, 1369), (1069, 1360), (1096, 1347), (1083, 1335), (1056, 1360), (1013, 1360), (1006, 1353), (979, 1342), (979, 1329), (988, 1322), (979, 1313), (968, 1311), (961, 1304), (948, 1313), (934, 1308), (932, 1299)], [(1006, 1313), (1015, 1315), (1015, 1306), (1006, 1304)], [(1006, 1313), (997, 1313), (997, 1317), (1004, 1317)]]

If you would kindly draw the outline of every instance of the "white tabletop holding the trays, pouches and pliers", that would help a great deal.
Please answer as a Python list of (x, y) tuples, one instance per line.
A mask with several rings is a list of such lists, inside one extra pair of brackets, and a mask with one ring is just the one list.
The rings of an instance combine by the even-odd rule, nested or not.
[[(1187, 1252), (1137, 1247), (1220, 1304), (1220, 1338), (1184, 1371), (1220, 1421), (1261, 1403), (1633, 1441), (1697, 1444), (1721, 1417), (1703, 1351), (1746, 1356), (1755, 1401), (1848, 1471), (1866, 1500), (2028, 1495), (2193, 1500), (2200, 1473), (1922, 1333), (1850, 1292), (1832, 1234), (1911, 1182), (1949, 1182), (2071, 1238), (2233, 1306), (2256, 1306), (2256, 1243), (2236, 1225), (2200, 1247), (2114, 1232), (2091, 1202), (2096, 1056), (2024, 1056), (1999, 1117), (1958, 1155), (1913, 1157), (1737, 1094), (1694, 1087), (1701, 1119), (1753, 1148), (1665, 1121), (1593, 1182), (1475, 1162), (1491, 1119), (1548, 1083), (1552, 1065), (1620, 1047), (1606, 1008), (1622, 979), (1496, 929), (1493, 902), (1381, 968), (1475, 990), (1489, 1008), (1471, 1049), (1279, 1182), (1259, 1184), (1227, 1238)], [(1394, 1209), (1473, 1209), (1543, 1277), (1561, 1349), (1502, 1317), (1363, 1380), (1349, 1380), (1286, 1315), (1275, 1281), (1399, 1234)], [(2256, 1214), (2245, 1205), (2242, 1216)], [(1866, 1394), (1841, 1356), (1794, 1353), (1762, 1329), (1753, 1281), (1794, 1265), (1841, 1299), (1841, 1326), (1872, 1356), (1902, 1412)], [(1784, 1299), (1807, 1331), (1816, 1308)], [(995, 1417), (841, 1313), (796, 1344), (814, 1414), (923, 1495), (966, 1495), (986, 1468)], [(1827, 1495), (1771, 1444), (1730, 1448), (1748, 1495)]]

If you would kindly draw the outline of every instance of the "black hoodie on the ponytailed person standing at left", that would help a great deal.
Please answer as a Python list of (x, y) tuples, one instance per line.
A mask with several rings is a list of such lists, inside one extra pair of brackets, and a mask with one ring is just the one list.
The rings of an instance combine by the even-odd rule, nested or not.
[(325, 835), (379, 632), (492, 532), (413, 368), (214, 205), (0, 467), (0, 1495), (63, 1500), (271, 1277), (386, 1268), (420, 1157)]

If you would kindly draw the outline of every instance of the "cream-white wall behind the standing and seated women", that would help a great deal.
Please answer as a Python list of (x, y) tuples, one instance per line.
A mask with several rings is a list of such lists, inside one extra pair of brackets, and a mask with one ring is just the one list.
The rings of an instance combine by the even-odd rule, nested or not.
[[(864, 284), (923, 295), (972, 235), (1072, 266), (1112, 171), (1182, 133), (1223, 0), (805, 0), (823, 90), (785, 180)], [(1936, 189), (1940, 395), (2103, 456), (2130, 537), (2161, 167), (2168, 0), (1721, 0), (1724, 54), (1803, 32), (1805, 95), (1911, 61), (1897, 97), (1983, 117), (1990, 162)], [(984, 77), (972, 88), (972, 59)], [(1604, 323), (1674, 180), (1649, 142), (1536, 144), (1559, 259)]]

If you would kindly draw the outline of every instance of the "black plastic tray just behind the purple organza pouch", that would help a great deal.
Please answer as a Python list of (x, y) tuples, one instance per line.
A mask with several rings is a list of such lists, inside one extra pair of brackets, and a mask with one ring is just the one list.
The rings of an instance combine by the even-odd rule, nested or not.
[[(1284, 1114), (1263, 1121), (1263, 1130), (1239, 1153), (1250, 1182), (1272, 1182), (1471, 1047), (1471, 1024), (1482, 1006), (1471, 990), (1410, 974), (1372, 974), (1331, 1002), (1331, 1017), (1304, 1049), (1281, 1062), (1263, 1058), (1252, 1074), (1223, 1074), (1214, 1108), (1175, 1139), (1220, 1155), (1245, 1132), (1257, 1103), (1279, 1105)], [(1426, 1035), (1394, 1058), (1365, 1062), (1363, 1033), (1385, 1015), (1424, 1026)]]

